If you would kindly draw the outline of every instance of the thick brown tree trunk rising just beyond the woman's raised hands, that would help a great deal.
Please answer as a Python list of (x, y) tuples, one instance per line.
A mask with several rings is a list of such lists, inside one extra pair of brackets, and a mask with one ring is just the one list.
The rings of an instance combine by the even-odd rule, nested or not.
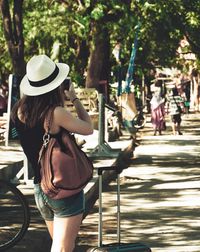
[(93, 30), (93, 47), (91, 48), (86, 87), (99, 90), (100, 81), (108, 83), (110, 73), (110, 39), (107, 28), (102, 24), (97, 24)]

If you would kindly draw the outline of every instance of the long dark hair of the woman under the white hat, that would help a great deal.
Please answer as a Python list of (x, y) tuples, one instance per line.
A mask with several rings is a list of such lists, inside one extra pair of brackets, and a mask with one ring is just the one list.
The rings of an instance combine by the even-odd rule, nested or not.
[(38, 96), (23, 96), (13, 107), (11, 118), (15, 122), (18, 110), (27, 127), (34, 127), (38, 122), (44, 122), (45, 116), (52, 107), (64, 106), (64, 90), (62, 85), (53, 91)]

